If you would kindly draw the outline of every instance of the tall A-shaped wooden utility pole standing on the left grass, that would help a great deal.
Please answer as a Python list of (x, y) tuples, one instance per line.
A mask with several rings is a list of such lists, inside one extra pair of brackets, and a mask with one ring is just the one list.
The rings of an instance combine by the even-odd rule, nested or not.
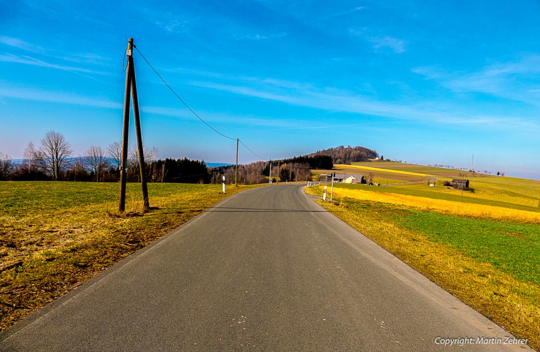
[[(135, 120), (135, 131), (137, 134), (137, 150), (139, 151), (140, 182), (143, 186), (144, 208), (150, 208), (148, 199), (148, 188), (146, 186), (146, 172), (144, 165), (143, 138), (140, 132), (139, 100), (137, 98), (137, 84), (135, 82), (135, 67), (133, 65), (133, 38), (127, 44), (127, 69), (126, 69), (126, 93), (124, 99), (124, 130), (122, 136), (122, 163), (120, 166), (120, 204), (118, 211), (123, 213), (126, 205), (126, 168), (127, 168), (127, 148), (129, 146), (127, 138), (130, 128), (130, 96), (133, 96), (133, 117)], [(130, 94), (131, 89), (131, 94)]]

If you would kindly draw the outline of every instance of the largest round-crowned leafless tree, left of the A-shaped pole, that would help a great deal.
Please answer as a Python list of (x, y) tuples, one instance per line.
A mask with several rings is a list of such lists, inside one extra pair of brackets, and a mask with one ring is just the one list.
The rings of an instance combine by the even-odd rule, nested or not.
[(69, 166), (72, 153), (71, 145), (62, 133), (48, 131), (39, 147), (40, 166), (53, 180), (58, 181), (61, 173)]

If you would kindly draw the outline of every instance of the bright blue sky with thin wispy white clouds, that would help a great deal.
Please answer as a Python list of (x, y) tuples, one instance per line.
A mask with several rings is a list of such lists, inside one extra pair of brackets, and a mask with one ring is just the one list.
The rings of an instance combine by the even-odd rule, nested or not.
[[(133, 37), (201, 118), (264, 159), (361, 145), (540, 179), (538, 33), (529, 0), (2, 1), (0, 152), (22, 158), (48, 130), (75, 154), (120, 140)], [(233, 163), (235, 141), (134, 62), (145, 145)]]

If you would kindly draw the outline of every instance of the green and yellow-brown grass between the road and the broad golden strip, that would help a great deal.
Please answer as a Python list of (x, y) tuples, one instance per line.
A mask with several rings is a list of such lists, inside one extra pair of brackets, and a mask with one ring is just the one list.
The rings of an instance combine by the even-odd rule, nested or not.
[[(322, 195), (319, 187), (306, 187), (306, 192)], [(318, 202), (464, 303), (529, 339), (529, 346), (540, 348), (540, 225), (334, 199)]]

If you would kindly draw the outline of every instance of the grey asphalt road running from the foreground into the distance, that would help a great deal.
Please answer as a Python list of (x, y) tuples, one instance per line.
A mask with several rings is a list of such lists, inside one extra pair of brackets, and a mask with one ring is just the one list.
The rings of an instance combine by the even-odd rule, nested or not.
[[(302, 187), (272, 185), (227, 198), (4, 331), (0, 350), (528, 348), (507, 336)], [(440, 344), (459, 338), (470, 340)]]

